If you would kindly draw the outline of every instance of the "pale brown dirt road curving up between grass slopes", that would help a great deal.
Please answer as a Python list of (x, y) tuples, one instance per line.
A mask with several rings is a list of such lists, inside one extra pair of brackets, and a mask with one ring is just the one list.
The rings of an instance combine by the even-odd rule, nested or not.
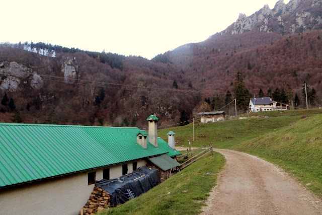
[(321, 200), (277, 166), (219, 150), (226, 164), (201, 214), (322, 214)]

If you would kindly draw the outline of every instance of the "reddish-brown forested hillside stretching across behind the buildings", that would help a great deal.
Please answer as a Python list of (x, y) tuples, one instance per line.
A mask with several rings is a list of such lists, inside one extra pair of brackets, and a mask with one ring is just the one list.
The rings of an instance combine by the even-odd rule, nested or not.
[[(318, 13), (322, 2), (302, 2), (309, 1), (317, 4), (307, 4), (311, 15)], [(290, 17), (287, 11), (284, 16)], [(302, 108), (303, 83), (309, 86), (309, 106), (322, 106), (320, 25), (291, 33), (254, 26), (218, 33), (152, 60), (44, 43), (2, 44), (0, 120), (145, 128), (146, 117), (156, 114), (158, 125), (165, 126), (217, 110), (236, 97), (240, 112), (254, 95)], [(24, 50), (26, 45), (33, 52)], [(55, 57), (39, 54), (41, 49)], [(240, 84), (246, 89), (237, 95)], [(223, 110), (234, 114), (230, 107)]]

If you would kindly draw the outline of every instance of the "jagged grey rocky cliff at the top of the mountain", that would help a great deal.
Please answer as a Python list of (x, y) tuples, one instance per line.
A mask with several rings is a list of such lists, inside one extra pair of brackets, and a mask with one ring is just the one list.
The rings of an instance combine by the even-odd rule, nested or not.
[(249, 17), (239, 14), (236, 22), (220, 34), (241, 34), (252, 29), (280, 34), (322, 29), (322, 0), (290, 0), (288, 4), (279, 0), (272, 10), (265, 5)]

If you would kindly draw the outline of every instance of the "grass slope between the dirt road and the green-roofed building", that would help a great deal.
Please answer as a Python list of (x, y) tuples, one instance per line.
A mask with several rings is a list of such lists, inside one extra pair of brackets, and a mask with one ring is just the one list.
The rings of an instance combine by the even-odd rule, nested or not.
[[(196, 214), (217, 180), (225, 163), (214, 153), (175, 174), (141, 196), (99, 214)], [(211, 173), (206, 174), (204, 173)], [(188, 191), (188, 192), (183, 192)], [(168, 194), (170, 192), (170, 194)]]

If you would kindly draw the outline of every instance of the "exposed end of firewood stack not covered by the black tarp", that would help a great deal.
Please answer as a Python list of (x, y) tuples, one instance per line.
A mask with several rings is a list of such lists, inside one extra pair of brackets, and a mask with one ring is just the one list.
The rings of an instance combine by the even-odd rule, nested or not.
[(102, 188), (95, 186), (89, 200), (87, 200), (85, 206), (81, 209), (81, 215), (95, 214), (109, 207), (110, 204), (111, 195)]

